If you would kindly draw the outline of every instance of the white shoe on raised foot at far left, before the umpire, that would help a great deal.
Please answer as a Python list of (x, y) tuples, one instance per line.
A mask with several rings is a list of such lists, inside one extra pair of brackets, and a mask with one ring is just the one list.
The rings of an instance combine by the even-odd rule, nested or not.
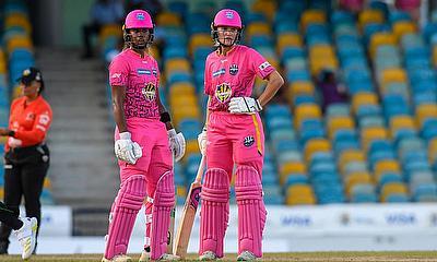
[(13, 231), (19, 239), (21, 248), (23, 250), (21, 258), (26, 260), (31, 258), (35, 249), (36, 229), (38, 228), (38, 222), (35, 217), (20, 218), (20, 221), (23, 222), (23, 226), (20, 229)]

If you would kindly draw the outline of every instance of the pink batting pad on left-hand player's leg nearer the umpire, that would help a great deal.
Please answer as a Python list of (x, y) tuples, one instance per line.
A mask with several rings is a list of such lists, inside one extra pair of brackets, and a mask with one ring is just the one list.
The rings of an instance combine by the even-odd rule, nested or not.
[(126, 254), (137, 214), (145, 196), (145, 178), (134, 175), (120, 187), (111, 207), (105, 258)]

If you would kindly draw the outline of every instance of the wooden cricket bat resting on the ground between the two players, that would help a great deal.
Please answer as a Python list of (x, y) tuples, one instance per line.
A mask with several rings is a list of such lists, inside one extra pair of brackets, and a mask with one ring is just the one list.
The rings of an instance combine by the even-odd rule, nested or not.
[(198, 174), (194, 181), (190, 186), (187, 200), (185, 201), (182, 215), (180, 217), (179, 226), (175, 240), (175, 254), (180, 258), (187, 255), (188, 242), (190, 241), (192, 224), (194, 223), (196, 211), (198, 210), (200, 201), (200, 191), (202, 189), (202, 175), (204, 169), (204, 156), (200, 160)]

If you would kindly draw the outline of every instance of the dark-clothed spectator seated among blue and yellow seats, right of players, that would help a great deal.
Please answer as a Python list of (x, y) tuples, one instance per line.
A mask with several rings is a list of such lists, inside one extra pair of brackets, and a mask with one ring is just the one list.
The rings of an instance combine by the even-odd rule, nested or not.
[(336, 80), (335, 73), (331, 69), (323, 69), (320, 71), (316, 81), (322, 95), (322, 109), (334, 103), (346, 103), (347, 91), (345, 86)]

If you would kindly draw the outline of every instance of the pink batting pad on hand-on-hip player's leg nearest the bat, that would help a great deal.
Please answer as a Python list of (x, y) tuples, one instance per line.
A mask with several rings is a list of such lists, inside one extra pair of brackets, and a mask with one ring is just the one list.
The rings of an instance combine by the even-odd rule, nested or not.
[(229, 217), (229, 178), (225, 170), (206, 170), (200, 199), (199, 253), (213, 251), (218, 258), (223, 258), (223, 241)]

